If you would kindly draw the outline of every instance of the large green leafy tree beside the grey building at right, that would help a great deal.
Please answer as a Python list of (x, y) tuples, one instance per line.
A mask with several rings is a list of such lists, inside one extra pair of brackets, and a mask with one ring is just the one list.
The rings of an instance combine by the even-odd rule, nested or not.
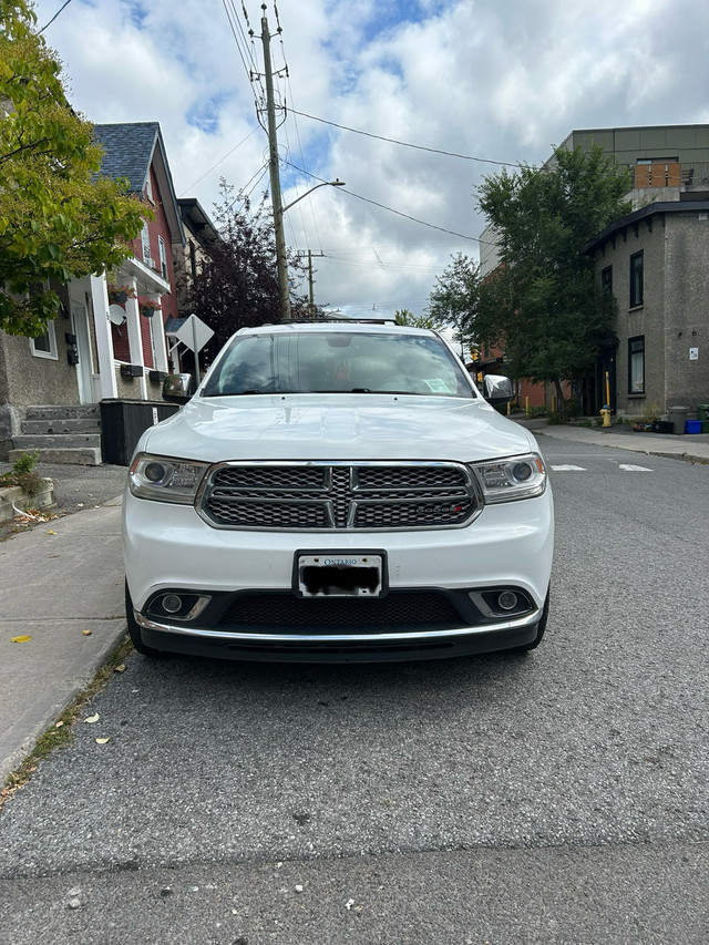
[(474, 331), (504, 348), (512, 377), (554, 383), (562, 411), (562, 381), (593, 370), (613, 317), (582, 250), (629, 212), (628, 189), (602, 147), (556, 148), (553, 166), (503, 171), (479, 188), (501, 265), (480, 286)]

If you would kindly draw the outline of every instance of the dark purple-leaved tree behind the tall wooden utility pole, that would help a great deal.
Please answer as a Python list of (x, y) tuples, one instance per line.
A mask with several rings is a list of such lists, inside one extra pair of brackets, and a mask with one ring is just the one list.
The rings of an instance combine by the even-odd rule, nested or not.
[[(213, 330), (204, 348), (210, 363), (239, 328), (280, 320), (280, 289), (276, 266), (276, 237), (270, 208), (265, 201), (251, 209), (247, 197), (234, 195), (222, 179), (222, 201), (215, 205), (215, 223), (222, 239), (209, 248), (196, 276), (186, 286), (189, 311)], [(291, 281), (302, 273), (302, 261), (289, 254)], [(294, 319), (310, 316), (305, 296), (290, 296)]]

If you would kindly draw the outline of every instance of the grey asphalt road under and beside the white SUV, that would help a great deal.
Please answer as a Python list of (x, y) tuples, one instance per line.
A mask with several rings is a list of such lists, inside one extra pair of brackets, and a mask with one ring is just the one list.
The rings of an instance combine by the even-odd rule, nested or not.
[(709, 468), (541, 445), (538, 650), (134, 655), (0, 818), (0, 941), (708, 941)]

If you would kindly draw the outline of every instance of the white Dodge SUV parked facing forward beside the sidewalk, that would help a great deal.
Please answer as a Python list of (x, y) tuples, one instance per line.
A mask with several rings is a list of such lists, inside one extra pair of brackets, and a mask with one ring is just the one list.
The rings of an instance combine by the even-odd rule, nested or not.
[(238, 331), (137, 444), (123, 506), (136, 649), (432, 659), (532, 649), (554, 513), (537, 444), (436, 332)]

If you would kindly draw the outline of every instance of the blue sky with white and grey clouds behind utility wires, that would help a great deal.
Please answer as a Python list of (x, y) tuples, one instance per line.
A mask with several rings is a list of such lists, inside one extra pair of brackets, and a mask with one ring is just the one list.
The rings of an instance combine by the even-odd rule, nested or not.
[(456, 254), (477, 260), (485, 175), (572, 130), (709, 123), (698, 0), (63, 3), (35, 12), (73, 106), (160, 122), (176, 195), (213, 218), (220, 178), (255, 203), (269, 187), (265, 18), (286, 242), (312, 253), (316, 302), (351, 316), (421, 315)]

